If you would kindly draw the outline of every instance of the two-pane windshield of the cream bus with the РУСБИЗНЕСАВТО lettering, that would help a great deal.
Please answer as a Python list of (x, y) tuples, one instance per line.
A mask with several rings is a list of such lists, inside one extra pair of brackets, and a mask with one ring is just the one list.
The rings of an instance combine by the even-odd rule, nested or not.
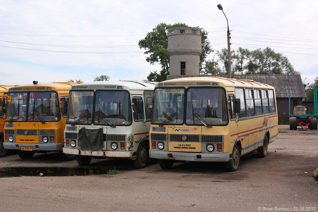
[[(187, 101), (185, 102), (185, 96)], [(222, 88), (155, 89), (152, 124), (227, 125), (225, 91)]]

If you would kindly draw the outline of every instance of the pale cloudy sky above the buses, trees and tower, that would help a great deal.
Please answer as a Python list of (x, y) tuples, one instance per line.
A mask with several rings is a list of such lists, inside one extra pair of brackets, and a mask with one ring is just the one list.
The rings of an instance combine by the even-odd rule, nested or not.
[[(160, 65), (146, 61), (138, 41), (157, 24), (203, 28), (214, 51), (271, 47), (305, 83), (318, 74), (315, 0), (0, 0), (0, 84), (65, 82), (107, 75), (147, 79)], [(212, 59), (211, 53), (207, 59)]]

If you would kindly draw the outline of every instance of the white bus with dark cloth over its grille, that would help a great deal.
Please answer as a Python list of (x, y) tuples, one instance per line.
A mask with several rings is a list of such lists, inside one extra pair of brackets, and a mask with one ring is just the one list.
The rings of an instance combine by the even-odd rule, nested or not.
[(149, 128), (155, 82), (104, 81), (74, 85), (65, 127), (65, 154), (79, 165), (92, 157), (149, 161)]

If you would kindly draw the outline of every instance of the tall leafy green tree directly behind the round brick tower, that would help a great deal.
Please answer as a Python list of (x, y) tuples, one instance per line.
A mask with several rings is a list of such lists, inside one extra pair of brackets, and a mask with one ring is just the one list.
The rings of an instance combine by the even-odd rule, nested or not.
[[(173, 27), (188, 26), (184, 23), (176, 24), (165, 24), (160, 23), (155, 28), (152, 29), (152, 32), (148, 32), (146, 37), (138, 42), (140, 49), (145, 49), (145, 54), (149, 54), (146, 58), (146, 61), (154, 65), (159, 63), (161, 65), (161, 70), (150, 72), (147, 79), (149, 81), (161, 82), (167, 79), (169, 74), (169, 62), (170, 58), (168, 55), (168, 29)], [(210, 47), (210, 42), (207, 40), (208, 33), (202, 31), (202, 54), (200, 56), (200, 70), (202, 69), (202, 64), (204, 63), (205, 58), (213, 50)]]

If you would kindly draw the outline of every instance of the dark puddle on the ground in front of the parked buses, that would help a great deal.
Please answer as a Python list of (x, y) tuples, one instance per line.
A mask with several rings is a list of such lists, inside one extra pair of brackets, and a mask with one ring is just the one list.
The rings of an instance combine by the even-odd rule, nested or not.
[(59, 168), (59, 167), (18, 167), (0, 168), (0, 177), (21, 176), (85, 176), (96, 174), (117, 174), (113, 168)]

